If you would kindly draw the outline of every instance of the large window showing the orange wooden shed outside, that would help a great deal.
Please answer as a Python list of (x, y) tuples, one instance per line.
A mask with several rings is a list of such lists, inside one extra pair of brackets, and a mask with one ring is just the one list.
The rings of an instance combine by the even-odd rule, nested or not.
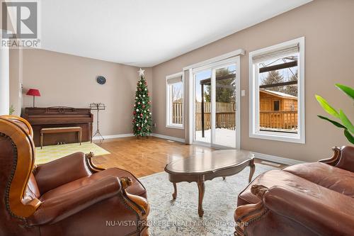
[(304, 38), (249, 53), (250, 137), (304, 143)]

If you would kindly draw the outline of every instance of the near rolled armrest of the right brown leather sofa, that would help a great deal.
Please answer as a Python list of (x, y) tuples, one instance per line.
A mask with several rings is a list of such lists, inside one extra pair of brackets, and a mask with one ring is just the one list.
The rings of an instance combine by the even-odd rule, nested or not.
[(354, 199), (324, 188), (319, 193), (274, 186), (261, 196), (266, 209), (319, 235), (354, 235)]

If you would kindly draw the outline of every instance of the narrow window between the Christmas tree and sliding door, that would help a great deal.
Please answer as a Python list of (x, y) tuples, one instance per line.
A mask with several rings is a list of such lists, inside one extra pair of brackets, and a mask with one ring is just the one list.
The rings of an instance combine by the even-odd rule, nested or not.
[(166, 77), (166, 127), (183, 128), (183, 72)]

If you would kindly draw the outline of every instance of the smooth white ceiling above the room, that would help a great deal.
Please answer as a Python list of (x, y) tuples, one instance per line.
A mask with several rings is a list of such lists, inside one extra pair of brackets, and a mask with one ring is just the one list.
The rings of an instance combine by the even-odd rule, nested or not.
[(311, 0), (42, 0), (42, 48), (151, 67)]

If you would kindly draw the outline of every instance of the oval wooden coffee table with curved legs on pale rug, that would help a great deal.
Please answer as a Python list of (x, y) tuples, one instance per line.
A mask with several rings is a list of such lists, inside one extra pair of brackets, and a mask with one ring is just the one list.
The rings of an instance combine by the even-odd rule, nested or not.
[(255, 171), (254, 155), (244, 150), (218, 150), (214, 152), (195, 154), (193, 157), (179, 159), (166, 165), (165, 172), (169, 173), (169, 180), (173, 183), (173, 199), (177, 197), (176, 183), (187, 181), (198, 184), (198, 214), (204, 214), (202, 199), (205, 193), (207, 180), (216, 177), (232, 176), (250, 167), (249, 182)]

